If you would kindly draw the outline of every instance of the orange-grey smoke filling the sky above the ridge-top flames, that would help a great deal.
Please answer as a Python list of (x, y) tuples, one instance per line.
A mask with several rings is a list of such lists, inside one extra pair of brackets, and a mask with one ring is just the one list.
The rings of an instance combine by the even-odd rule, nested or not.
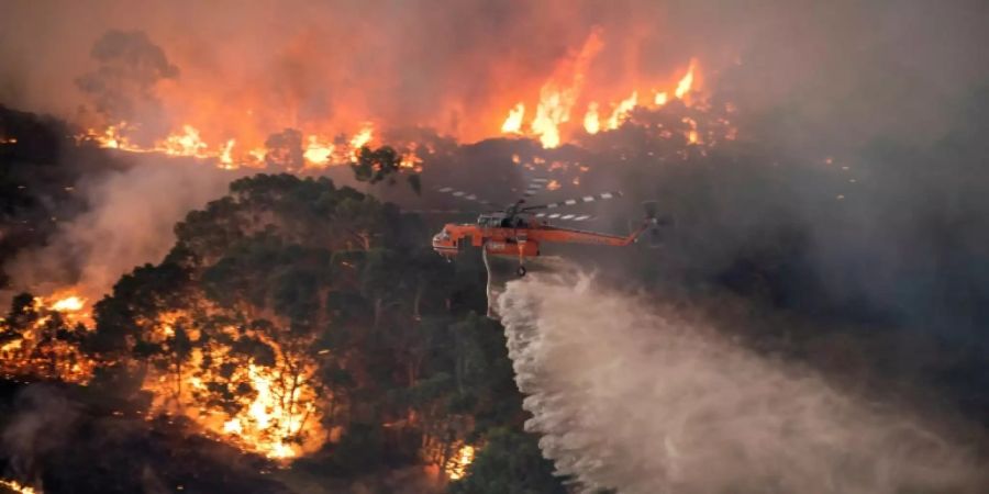
[[(945, 102), (989, 74), (980, 58), (985, 9), (979, 1), (13, 2), (0, 20), (0, 103), (70, 116), (96, 94), (98, 108), (116, 112), (119, 102), (100, 104), (100, 86), (109, 69), (127, 67), (109, 86), (125, 80), (146, 96), (157, 81), (155, 96), (167, 102), (160, 121), (251, 122), (266, 128), (263, 138), (374, 119), (474, 139), (536, 97), (598, 29), (603, 48), (587, 88), (626, 98), (616, 91), (630, 81), (697, 57), (710, 86), (743, 108), (798, 106), (785, 123), (814, 131), (790, 137), (814, 146), (836, 131), (860, 139), (936, 127), (951, 113)], [(74, 81), (87, 74), (100, 83), (79, 91)]]

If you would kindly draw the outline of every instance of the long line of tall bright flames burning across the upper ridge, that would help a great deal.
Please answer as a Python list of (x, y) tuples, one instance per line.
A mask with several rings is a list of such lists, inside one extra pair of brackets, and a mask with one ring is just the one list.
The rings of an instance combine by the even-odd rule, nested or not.
[[(403, 125), (434, 128), (458, 141), (484, 139), (499, 133), (524, 135), (537, 138), (544, 148), (553, 148), (578, 135), (580, 126), (587, 134), (618, 128), (637, 105), (658, 108), (671, 98), (692, 105), (690, 98), (697, 91), (699, 78), (698, 64), (693, 58), (689, 60), (686, 74), (677, 71), (666, 76), (643, 76), (637, 68), (631, 68), (627, 74), (634, 74), (636, 79), (645, 79), (642, 86), (637, 85), (637, 80), (626, 79), (623, 82), (621, 75), (615, 77), (612, 74), (609, 74), (609, 80), (614, 80), (614, 83), (609, 82), (607, 87), (591, 85), (590, 81), (602, 79), (597, 77), (599, 74), (592, 72), (592, 69), (601, 70), (592, 63), (603, 50), (602, 33), (601, 29), (592, 29), (584, 43), (575, 45), (562, 56), (545, 77), (519, 78), (518, 83), (524, 86), (512, 88), (504, 94), (493, 93), (470, 101), (451, 101), (454, 105), (437, 109), (435, 119)], [(371, 143), (379, 128), (390, 131), (387, 123), (395, 120), (386, 121), (379, 115), (366, 114), (367, 109), (374, 105), (355, 103), (352, 106), (346, 101), (341, 101), (333, 114), (314, 116), (302, 111), (300, 105), (303, 102), (289, 100), (271, 104), (265, 101), (263, 91), (243, 90), (231, 93), (227, 90), (221, 93), (210, 87), (200, 87), (201, 82), (209, 80), (182, 79), (156, 88), (156, 97), (182, 124), (171, 130), (170, 134), (151, 141), (151, 144), (138, 142), (136, 136), (143, 136), (138, 132), (142, 131), (140, 122), (108, 122), (102, 127), (90, 128), (77, 138), (124, 151), (164, 153), (213, 160), (221, 168), (234, 169), (266, 166), (267, 136), (273, 132), (292, 128), (305, 136), (302, 143), (303, 168), (319, 169), (355, 160), (360, 147)], [(648, 98), (645, 97), (646, 93), (649, 94)], [(632, 97), (627, 97), (629, 94)], [(465, 109), (477, 114), (460, 117)], [(602, 109), (607, 109), (607, 112), (602, 113)], [(582, 119), (574, 116), (578, 111), (584, 112)], [(305, 119), (300, 117), (302, 114), (305, 114)], [(451, 123), (436, 125), (436, 122), (444, 119)], [(579, 132), (579, 135), (582, 134)], [(396, 148), (409, 145), (387, 144)], [(404, 160), (405, 168), (415, 169), (418, 166), (411, 156)]]

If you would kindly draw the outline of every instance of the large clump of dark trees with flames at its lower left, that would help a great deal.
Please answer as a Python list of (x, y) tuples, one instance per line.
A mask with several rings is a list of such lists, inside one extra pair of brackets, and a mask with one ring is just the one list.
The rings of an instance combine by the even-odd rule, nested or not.
[(176, 234), (162, 263), (97, 304), (86, 340), (104, 369), (138, 377), (156, 413), (271, 458), (332, 439), (332, 461), (359, 444), (377, 445), (376, 461), (446, 465), (475, 414), (493, 412), (487, 388), (510, 383), (507, 361), (489, 361), (500, 333), (476, 317), (453, 325), (463, 283), (435, 282), (457, 274), (393, 205), (260, 175)]

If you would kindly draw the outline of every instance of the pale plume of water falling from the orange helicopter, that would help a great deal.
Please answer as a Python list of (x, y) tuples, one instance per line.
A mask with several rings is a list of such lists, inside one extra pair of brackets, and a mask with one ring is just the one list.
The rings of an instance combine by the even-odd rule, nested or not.
[(705, 324), (586, 276), (500, 297), (544, 454), (588, 490), (977, 492), (974, 457), (933, 425), (759, 357)]

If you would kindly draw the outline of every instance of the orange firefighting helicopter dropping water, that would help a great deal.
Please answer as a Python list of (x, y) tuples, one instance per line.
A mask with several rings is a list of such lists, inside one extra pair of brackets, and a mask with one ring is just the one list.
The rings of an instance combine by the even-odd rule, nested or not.
[[(522, 199), (502, 211), (481, 213), (477, 217), (477, 223), (447, 223), (440, 233), (433, 236), (433, 249), (447, 260), (452, 260), (469, 242), (474, 247), (484, 247), (488, 255), (518, 257), (519, 268), (515, 272), (520, 277), (524, 277), (525, 259), (538, 256), (540, 246), (544, 243), (626, 246), (635, 243), (644, 232), (653, 231), (656, 234), (658, 226), (668, 224), (668, 220), (660, 221), (656, 217), (655, 202), (647, 201), (643, 203), (646, 207), (645, 221), (625, 236), (555, 226), (551, 223), (555, 221), (581, 222), (591, 220), (592, 216), (549, 211), (620, 198), (622, 193), (604, 192), (547, 204), (525, 205), (526, 198), (537, 193), (546, 183), (547, 179), (533, 179)], [(436, 190), (482, 205), (491, 205), (490, 202), (478, 199), (475, 194), (451, 187)]]

